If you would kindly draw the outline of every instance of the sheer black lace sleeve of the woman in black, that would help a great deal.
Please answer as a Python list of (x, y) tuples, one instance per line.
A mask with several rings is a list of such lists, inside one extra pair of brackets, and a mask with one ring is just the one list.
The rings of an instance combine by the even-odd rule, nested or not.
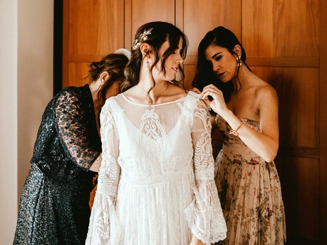
[(88, 170), (100, 152), (91, 144), (87, 135), (87, 118), (77, 94), (74, 91), (63, 91), (57, 99), (55, 113), (64, 151), (77, 166)]

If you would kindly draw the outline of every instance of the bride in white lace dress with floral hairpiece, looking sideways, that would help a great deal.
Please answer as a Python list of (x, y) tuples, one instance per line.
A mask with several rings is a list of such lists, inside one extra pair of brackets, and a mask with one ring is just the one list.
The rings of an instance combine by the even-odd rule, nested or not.
[[(86, 244), (226, 237), (206, 105), (175, 81), (188, 41), (167, 22), (135, 35), (123, 93), (101, 112), (102, 164)], [(172, 82), (171, 82), (172, 81)]]

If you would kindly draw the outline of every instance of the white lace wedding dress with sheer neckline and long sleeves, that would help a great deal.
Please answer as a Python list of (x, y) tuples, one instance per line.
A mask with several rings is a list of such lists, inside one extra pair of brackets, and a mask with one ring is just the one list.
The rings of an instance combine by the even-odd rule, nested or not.
[(210, 244), (226, 237), (206, 105), (189, 92), (158, 105), (108, 99), (86, 244)]

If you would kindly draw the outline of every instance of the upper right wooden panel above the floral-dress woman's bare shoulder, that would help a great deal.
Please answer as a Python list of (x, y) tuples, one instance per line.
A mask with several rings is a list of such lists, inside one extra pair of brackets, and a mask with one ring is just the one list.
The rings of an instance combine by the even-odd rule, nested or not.
[(243, 0), (247, 56), (318, 57), (319, 1)]

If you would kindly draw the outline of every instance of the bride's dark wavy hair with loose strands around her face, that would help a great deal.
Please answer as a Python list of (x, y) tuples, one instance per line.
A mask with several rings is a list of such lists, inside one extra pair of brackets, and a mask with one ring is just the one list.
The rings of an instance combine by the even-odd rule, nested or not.
[[(182, 59), (185, 59), (186, 57), (186, 51), (188, 50), (189, 42), (187, 37), (181, 30), (179, 30), (171, 23), (161, 22), (161, 21), (149, 22), (138, 28), (135, 34), (135, 40), (139, 39), (140, 35), (142, 35), (144, 31), (148, 31), (151, 28), (152, 28), (151, 34), (147, 35), (147, 39), (142, 42), (142, 43), (148, 43), (151, 46), (147, 54), (153, 52), (153, 54), (155, 55), (154, 63), (150, 67), (151, 71), (159, 61), (158, 51), (161, 45), (166, 40), (168, 40), (170, 44), (169, 48), (166, 50), (166, 52), (164, 53), (161, 59), (161, 71), (164, 72), (165, 75), (166, 74), (165, 62), (167, 58), (176, 51), (180, 38), (182, 39), (183, 42), (180, 50), (180, 56), (182, 57)], [(122, 91), (126, 91), (127, 89), (135, 86), (139, 82), (139, 73), (141, 70), (142, 61), (145, 58), (145, 57), (143, 58), (142, 52), (139, 47), (136, 48), (136, 50), (132, 50), (131, 52), (132, 52), (131, 58), (125, 69), (126, 81), (121, 85)], [(174, 80), (172, 82), (175, 83), (176, 85), (183, 86), (183, 80), (185, 77), (184, 71), (180, 65), (178, 65), (178, 68), (181, 71), (182, 78), (180, 81)], [(151, 72), (151, 76), (152, 76), (152, 72)], [(148, 95), (150, 91), (153, 89), (153, 87), (155, 86), (155, 81), (153, 79), (153, 76), (152, 76), (152, 81), (153, 81), (153, 85), (148, 91)], [(151, 100), (150, 96), (149, 99)]]

